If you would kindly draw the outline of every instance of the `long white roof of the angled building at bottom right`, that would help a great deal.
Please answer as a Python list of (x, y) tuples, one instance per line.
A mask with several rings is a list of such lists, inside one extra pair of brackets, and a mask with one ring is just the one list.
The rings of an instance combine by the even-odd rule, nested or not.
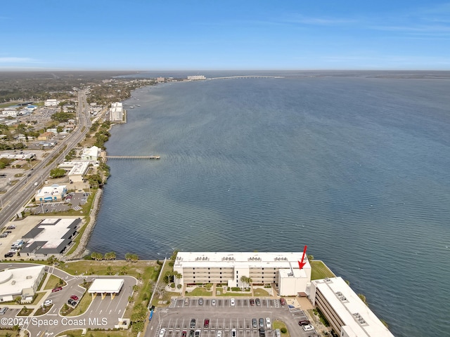
[(394, 336), (342, 277), (313, 281), (344, 322), (349, 336)]

